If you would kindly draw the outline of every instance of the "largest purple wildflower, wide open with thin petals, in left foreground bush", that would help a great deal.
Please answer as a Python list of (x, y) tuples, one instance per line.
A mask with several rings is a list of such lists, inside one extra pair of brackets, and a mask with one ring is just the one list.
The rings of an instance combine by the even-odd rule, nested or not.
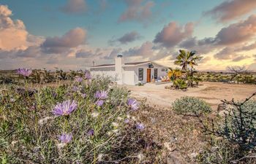
[(78, 104), (75, 103), (75, 101), (63, 101), (62, 103), (58, 103), (54, 109), (53, 114), (56, 116), (67, 116), (71, 114), (75, 109), (78, 108)]

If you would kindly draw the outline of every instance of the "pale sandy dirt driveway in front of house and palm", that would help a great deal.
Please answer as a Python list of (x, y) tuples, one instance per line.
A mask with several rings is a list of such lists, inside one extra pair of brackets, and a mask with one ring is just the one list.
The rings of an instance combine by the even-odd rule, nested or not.
[(132, 96), (135, 98), (146, 98), (146, 103), (157, 105), (160, 107), (170, 107), (176, 98), (188, 95), (197, 98), (202, 98), (214, 109), (220, 104), (220, 100), (243, 100), (244, 98), (256, 92), (256, 85), (236, 85), (223, 84), (221, 82), (201, 82), (199, 87), (189, 88), (187, 91), (167, 90), (166, 85), (155, 85), (147, 83), (144, 86), (130, 86)]

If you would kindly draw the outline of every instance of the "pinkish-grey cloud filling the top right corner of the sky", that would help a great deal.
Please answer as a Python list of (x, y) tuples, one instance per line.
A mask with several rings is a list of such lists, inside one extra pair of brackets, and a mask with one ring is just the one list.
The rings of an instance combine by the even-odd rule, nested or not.
[(219, 4), (205, 14), (211, 15), (220, 22), (227, 22), (246, 15), (255, 8), (255, 0), (231, 0), (222, 2), (222, 4)]

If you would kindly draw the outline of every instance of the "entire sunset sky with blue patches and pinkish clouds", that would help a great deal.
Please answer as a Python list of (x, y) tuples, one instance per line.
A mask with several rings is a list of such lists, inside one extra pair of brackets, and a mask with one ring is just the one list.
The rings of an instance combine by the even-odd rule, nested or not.
[(154, 60), (178, 50), (196, 69), (256, 70), (255, 0), (0, 0), (0, 69), (87, 69)]

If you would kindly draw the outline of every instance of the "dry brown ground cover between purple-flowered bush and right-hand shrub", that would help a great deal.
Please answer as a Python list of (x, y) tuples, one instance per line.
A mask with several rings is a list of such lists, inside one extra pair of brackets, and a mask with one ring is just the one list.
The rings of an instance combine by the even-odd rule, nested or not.
[(184, 117), (157, 106), (144, 106), (138, 117), (154, 136), (153, 141), (163, 147), (162, 163), (195, 163), (195, 156), (205, 144), (196, 117)]

